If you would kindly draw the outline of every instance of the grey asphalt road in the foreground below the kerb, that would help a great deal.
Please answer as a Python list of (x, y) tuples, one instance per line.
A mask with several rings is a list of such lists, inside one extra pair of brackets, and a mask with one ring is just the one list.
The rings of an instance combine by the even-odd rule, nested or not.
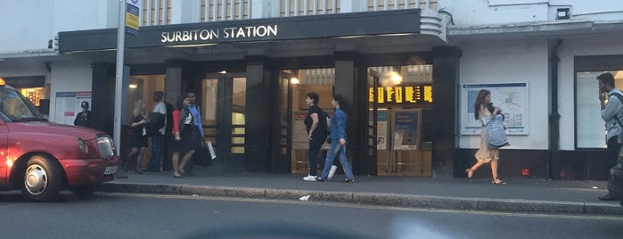
[[(192, 195), (61, 202), (0, 194), (4, 238), (621, 238), (623, 217), (432, 210)], [(282, 236), (282, 237), (279, 237)]]

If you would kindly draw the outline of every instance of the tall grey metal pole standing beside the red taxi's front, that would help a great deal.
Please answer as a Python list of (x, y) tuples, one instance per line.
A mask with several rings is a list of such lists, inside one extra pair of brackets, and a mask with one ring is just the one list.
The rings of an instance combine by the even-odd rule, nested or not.
[(121, 152), (121, 94), (123, 91), (123, 54), (126, 41), (126, 0), (119, 0), (119, 24), (117, 26), (117, 77), (115, 78), (115, 120), (113, 136), (117, 142), (117, 155)]

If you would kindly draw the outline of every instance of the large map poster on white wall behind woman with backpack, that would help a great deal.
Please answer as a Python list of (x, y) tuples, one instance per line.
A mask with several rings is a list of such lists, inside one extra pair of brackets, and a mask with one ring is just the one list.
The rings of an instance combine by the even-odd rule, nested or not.
[(506, 135), (528, 135), (528, 83), (464, 84), (461, 87), (461, 135), (480, 135), (474, 102), (480, 89), (491, 92), (491, 103), (502, 109)]

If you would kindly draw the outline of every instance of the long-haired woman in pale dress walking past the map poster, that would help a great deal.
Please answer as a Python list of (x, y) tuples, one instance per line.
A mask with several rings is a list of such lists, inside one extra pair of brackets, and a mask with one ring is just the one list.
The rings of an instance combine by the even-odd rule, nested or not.
[(500, 108), (494, 107), (491, 103), (491, 92), (481, 89), (478, 92), (476, 101), (474, 102), (474, 118), (480, 120), (482, 128), (480, 129), (480, 147), (476, 154), (476, 163), (469, 169), (465, 169), (467, 178), (471, 181), (474, 172), (485, 163), (491, 165), (491, 183), (494, 185), (506, 185), (506, 183), (497, 177), (497, 162), (500, 159), (500, 151), (497, 148), (489, 148), (487, 144), (487, 130), (484, 127), (484, 119), (490, 118), (501, 111)]

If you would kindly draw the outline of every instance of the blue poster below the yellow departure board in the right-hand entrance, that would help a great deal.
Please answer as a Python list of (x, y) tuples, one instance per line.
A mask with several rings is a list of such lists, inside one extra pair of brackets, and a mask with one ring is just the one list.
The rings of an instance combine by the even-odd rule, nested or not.
[(396, 111), (394, 114), (394, 150), (414, 150), (418, 144), (419, 111)]

